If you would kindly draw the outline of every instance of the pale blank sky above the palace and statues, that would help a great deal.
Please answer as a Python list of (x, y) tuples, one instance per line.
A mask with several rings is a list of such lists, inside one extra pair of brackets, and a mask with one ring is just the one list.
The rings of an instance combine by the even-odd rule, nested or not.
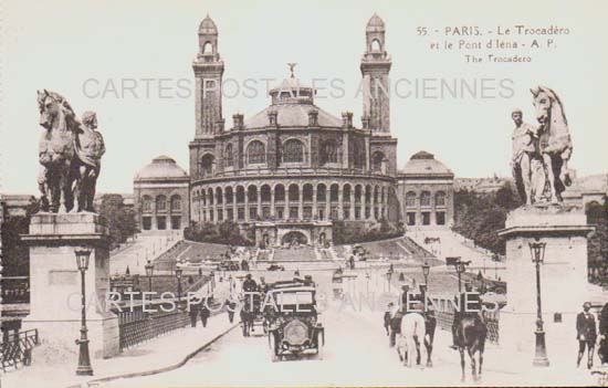
[[(281, 82), (289, 76), (289, 62), (297, 63), (295, 73), (305, 84), (326, 87), (339, 80), (344, 96), (319, 90), (315, 103), (337, 117), (352, 111), (359, 126), (359, 62), (366, 23), (377, 12), (386, 23), (390, 77), (407, 80), (400, 84), (405, 87), (400, 96), (391, 94), (391, 133), (399, 140), (400, 168), (412, 154), (427, 150), (457, 177), (510, 175), (511, 112), (520, 107), (526, 122), (535, 122), (530, 88), (542, 84), (552, 87), (565, 105), (574, 143), (570, 167), (578, 175), (607, 172), (605, 1), (3, 2), (2, 192), (36, 193), (38, 139), (43, 130), (38, 125), (36, 91), (43, 88), (66, 97), (78, 115), (97, 113), (107, 147), (99, 192), (130, 192), (135, 174), (159, 155), (174, 157), (187, 169), (188, 143), (195, 135), (191, 63), (198, 51), (198, 25), (207, 14), (219, 30), (224, 80), (233, 80), (226, 93), (230, 97), (223, 101), (227, 126), (233, 113), (243, 113), (247, 120), (270, 104), (260, 80)], [(497, 27), (511, 28), (513, 33), (514, 25), (554, 25), (568, 29), (568, 34), (536, 36), (543, 44), (554, 39), (551, 49), (538, 50), (530, 46), (534, 36), (511, 35), (505, 40), (526, 42), (526, 48), (492, 51), (530, 55), (530, 63), (465, 63), (463, 51), (430, 49), (432, 42), (445, 39), (454, 44), (461, 38), (478, 39), (447, 38), (447, 27), (451, 33), (455, 28), (462, 32), (462, 27), (478, 27), (485, 45), (496, 38)], [(418, 35), (419, 28), (427, 28), (432, 36)], [(490, 30), (491, 35), (485, 33)], [(490, 51), (469, 53), (485, 57)], [(258, 96), (235, 92), (234, 85), (244, 80), (259, 82)], [(437, 85), (440, 80), (469, 84), (491, 80), (494, 86), (502, 81), (512, 93), (460, 97), (438, 97), (437, 91), (426, 96), (411, 93), (409, 85), (416, 82)], [(122, 93), (120, 85), (135, 85), (134, 93)]]

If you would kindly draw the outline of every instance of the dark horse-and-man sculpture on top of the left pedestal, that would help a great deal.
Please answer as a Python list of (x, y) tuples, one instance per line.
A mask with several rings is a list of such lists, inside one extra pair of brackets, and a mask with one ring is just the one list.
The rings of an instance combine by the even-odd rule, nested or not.
[(39, 143), (41, 211), (94, 211), (105, 153), (103, 137), (95, 130), (95, 114), (86, 112), (83, 124), (63, 96), (46, 90), (38, 92), (38, 106), (39, 123), (45, 129)]

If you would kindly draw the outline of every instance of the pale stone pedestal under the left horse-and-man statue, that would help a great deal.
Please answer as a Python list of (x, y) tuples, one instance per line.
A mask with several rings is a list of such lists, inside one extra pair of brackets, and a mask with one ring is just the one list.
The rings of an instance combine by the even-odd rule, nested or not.
[[(81, 273), (74, 250), (92, 250), (85, 274), (86, 326), (91, 357), (118, 354), (118, 319), (106, 311), (109, 291), (107, 228), (95, 213), (38, 213), (22, 241), (30, 247), (30, 315), (24, 328), (38, 328), (49, 346), (73, 347), (81, 328)], [(35, 357), (35, 355), (34, 355)], [(74, 359), (74, 367), (76, 365)]]

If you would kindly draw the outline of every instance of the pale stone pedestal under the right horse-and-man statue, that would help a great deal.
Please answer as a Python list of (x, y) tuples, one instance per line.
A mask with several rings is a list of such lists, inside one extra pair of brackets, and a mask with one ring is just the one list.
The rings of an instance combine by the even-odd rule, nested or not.
[(506, 298), (500, 315), (501, 347), (534, 357), (536, 266), (530, 242), (546, 243), (541, 296), (546, 348), (552, 365), (576, 361), (576, 314), (588, 300), (587, 234), (593, 228), (581, 208), (565, 205), (512, 211), (500, 235), (506, 239)]

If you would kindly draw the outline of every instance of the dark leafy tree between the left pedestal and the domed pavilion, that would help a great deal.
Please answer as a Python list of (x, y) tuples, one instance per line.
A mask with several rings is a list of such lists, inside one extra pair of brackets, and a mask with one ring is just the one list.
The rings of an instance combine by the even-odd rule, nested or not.
[(135, 210), (125, 206), (125, 199), (120, 195), (104, 195), (99, 214), (107, 222), (111, 248), (126, 242), (129, 237), (139, 232)]

